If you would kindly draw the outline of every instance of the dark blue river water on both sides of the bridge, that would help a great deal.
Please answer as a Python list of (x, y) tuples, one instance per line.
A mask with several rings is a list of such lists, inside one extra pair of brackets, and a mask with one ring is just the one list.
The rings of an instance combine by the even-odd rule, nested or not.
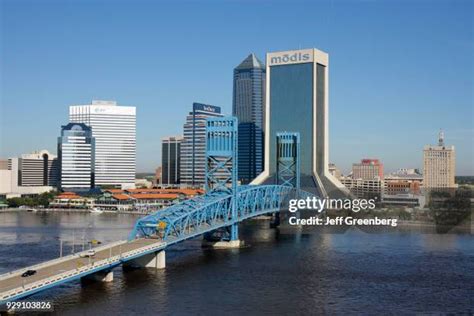
[[(83, 240), (126, 239), (136, 216), (0, 213), (0, 274), (76, 250)], [(65, 284), (29, 300), (61, 315), (474, 313), (474, 237), (426, 228), (376, 234), (240, 227), (249, 247), (166, 252), (164, 270), (114, 270), (112, 283)], [(87, 247), (86, 245), (84, 247)]]

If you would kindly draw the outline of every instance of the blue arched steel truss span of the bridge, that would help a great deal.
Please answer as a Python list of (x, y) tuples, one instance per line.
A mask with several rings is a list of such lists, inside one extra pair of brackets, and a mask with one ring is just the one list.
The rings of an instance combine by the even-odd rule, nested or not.
[(151, 237), (168, 245), (178, 243), (248, 218), (278, 212), (292, 190), (281, 185), (243, 186), (236, 196), (237, 216), (232, 216), (233, 195), (205, 194), (139, 219), (129, 238)]

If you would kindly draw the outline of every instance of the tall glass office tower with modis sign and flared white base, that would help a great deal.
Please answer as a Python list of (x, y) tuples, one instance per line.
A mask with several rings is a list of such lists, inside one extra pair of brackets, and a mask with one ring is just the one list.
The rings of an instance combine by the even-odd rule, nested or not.
[(301, 188), (320, 196), (347, 189), (329, 173), (328, 54), (317, 49), (267, 53), (265, 165), (253, 183), (276, 182), (276, 133), (300, 133)]

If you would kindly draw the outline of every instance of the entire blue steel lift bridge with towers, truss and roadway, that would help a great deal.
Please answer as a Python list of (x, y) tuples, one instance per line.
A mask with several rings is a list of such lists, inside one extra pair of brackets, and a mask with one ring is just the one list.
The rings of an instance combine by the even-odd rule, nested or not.
[[(206, 126), (206, 194), (137, 220), (128, 240), (0, 275), (0, 305), (74, 280), (112, 281), (117, 266), (165, 267), (165, 249), (203, 235), (215, 247), (239, 247), (238, 224), (278, 214), (299, 188), (299, 134), (277, 134), (277, 176), (273, 185), (237, 184), (237, 119), (210, 118)], [(276, 217), (278, 218), (278, 217)], [(23, 278), (26, 270), (36, 274)]]

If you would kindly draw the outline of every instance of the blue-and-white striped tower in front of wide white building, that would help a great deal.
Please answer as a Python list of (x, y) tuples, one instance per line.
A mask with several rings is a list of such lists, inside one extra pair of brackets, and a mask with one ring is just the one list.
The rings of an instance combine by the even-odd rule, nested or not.
[(89, 126), (83, 123), (61, 126), (58, 137), (61, 189), (82, 191), (94, 187), (94, 148)]

